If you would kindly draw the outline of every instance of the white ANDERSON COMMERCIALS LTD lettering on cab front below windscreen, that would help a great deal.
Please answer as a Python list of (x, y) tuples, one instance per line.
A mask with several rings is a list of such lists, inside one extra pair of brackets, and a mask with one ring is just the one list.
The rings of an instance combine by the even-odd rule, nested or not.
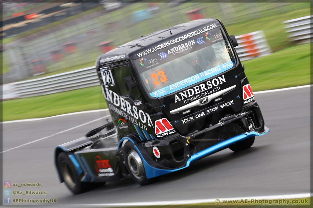
[[(207, 96), (211, 94), (212, 92), (216, 92), (220, 89), (218, 85), (223, 84), (226, 82), (226, 79), (224, 77), (225, 75), (222, 75), (220, 77), (214, 78), (213, 80), (209, 80), (206, 82), (206, 84), (201, 83), (197, 86), (194, 86), (192, 88), (189, 88), (183, 92), (179, 92), (175, 94), (175, 103), (179, 101), (183, 101), (184, 103), (189, 103), (192, 101), (195, 101), (201, 97)], [(213, 88), (213, 86), (215, 88)], [(203, 102), (203, 103), (201, 103)], [(206, 99), (200, 100), (201, 104), (205, 104), (207, 102)]]

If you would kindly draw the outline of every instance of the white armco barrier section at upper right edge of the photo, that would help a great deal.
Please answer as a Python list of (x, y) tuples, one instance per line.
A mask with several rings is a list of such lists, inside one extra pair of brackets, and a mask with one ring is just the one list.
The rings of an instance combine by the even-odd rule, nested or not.
[(311, 40), (311, 21), (312, 16), (300, 17), (282, 22), (286, 24), (285, 32), (290, 33), (288, 37), (290, 41), (296, 44), (309, 43)]

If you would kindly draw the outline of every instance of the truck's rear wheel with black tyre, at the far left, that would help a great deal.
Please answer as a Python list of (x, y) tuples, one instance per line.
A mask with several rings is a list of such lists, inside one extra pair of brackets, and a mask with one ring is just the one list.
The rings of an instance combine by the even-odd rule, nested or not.
[(103, 182), (102, 183), (81, 182), (72, 161), (69, 159), (69, 156), (65, 152), (61, 152), (58, 155), (57, 161), (58, 168), (64, 178), (66, 186), (74, 194), (80, 194), (85, 191), (98, 188), (105, 184)]

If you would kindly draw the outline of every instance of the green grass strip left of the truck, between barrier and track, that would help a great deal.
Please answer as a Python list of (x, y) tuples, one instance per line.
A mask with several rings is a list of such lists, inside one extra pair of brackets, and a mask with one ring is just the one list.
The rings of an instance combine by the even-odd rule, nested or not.
[(3, 102), (3, 121), (41, 118), (64, 113), (106, 108), (100, 87)]

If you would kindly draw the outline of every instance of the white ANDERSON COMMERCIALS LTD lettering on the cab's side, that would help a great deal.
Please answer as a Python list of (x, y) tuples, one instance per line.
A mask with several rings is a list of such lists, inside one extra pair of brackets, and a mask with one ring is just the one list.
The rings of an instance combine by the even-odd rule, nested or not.
[[(134, 125), (139, 126), (141, 129), (147, 130), (147, 126), (154, 127), (150, 115), (142, 110), (137, 109), (136, 105), (131, 105), (124, 98), (120, 97), (117, 93), (109, 90), (107, 87), (101, 87), (104, 98), (110, 102), (108, 105), (112, 112), (131, 121)], [(138, 104), (137, 104), (138, 105)], [(146, 126), (147, 125), (147, 126)]]

